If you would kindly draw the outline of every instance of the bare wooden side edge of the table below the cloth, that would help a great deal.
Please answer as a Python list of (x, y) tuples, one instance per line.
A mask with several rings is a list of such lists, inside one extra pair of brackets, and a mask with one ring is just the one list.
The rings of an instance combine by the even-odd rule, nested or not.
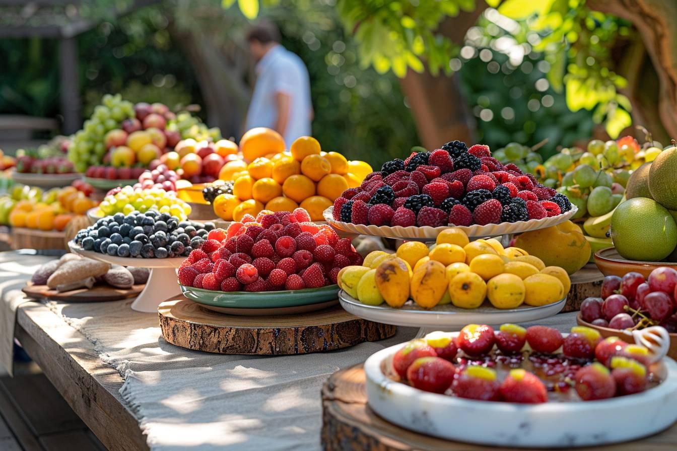
[(43, 304), (26, 302), (17, 311), (15, 336), (106, 448), (148, 450), (138, 421), (118, 393), (121, 375), (97, 356), (84, 335), (55, 319)]

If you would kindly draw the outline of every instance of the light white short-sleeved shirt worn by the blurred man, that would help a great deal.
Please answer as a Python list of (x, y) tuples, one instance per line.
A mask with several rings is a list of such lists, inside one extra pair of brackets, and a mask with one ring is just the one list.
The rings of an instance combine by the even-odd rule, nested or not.
[(275, 95), (286, 93), (291, 97), (289, 120), (284, 130), (287, 148), (294, 139), (311, 134), (310, 82), (308, 71), (294, 53), (276, 45), (257, 64), (257, 81), (247, 112), (246, 129), (273, 128), (278, 112)]

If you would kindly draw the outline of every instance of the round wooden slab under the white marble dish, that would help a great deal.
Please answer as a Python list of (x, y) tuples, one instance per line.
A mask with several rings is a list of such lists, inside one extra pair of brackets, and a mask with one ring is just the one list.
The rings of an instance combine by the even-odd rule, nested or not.
[[(517, 451), (516, 448), (491, 448), (450, 442), (402, 429), (378, 417), (367, 405), (362, 364), (337, 371), (322, 387), (322, 431), (324, 451)], [(462, 412), (459, 412), (462, 414)], [(412, 419), (416, 421), (416, 419)], [(425, 421), (424, 418), (420, 421)], [(450, 419), (453, 421), (453, 419)], [(491, 427), (491, 425), (487, 425)], [(515, 431), (519, 433), (519, 431)], [(677, 423), (669, 429), (642, 440), (609, 446), (575, 448), (590, 451), (631, 451), (674, 449)]]

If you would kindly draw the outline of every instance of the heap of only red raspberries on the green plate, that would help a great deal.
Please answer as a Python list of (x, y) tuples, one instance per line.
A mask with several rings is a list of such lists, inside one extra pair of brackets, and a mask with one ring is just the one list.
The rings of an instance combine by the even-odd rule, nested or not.
[(214, 291), (275, 291), (336, 283), (339, 270), (362, 264), (349, 238), (310, 222), (303, 208), (245, 214), (210, 231), (179, 267), (179, 284)]

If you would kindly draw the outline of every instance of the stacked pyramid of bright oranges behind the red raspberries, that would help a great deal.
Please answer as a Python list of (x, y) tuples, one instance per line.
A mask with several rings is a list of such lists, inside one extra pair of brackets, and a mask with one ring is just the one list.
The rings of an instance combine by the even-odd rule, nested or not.
[[(214, 199), (214, 212), (223, 220), (256, 216), (261, 210), (274, 212), (305, 208), (311, 220), (324, 220), (322, 212), (348, 188), (359, 186), (372, 172), (365, 162), (351, 161), (338, 152), (324, 152), (313, 137), (300, 137), (289, 153), (270, 158), (258, 156), (241, 170), (227, 173), (232, 194)], [(223, 177), (225, 172), (222, 172)]]

